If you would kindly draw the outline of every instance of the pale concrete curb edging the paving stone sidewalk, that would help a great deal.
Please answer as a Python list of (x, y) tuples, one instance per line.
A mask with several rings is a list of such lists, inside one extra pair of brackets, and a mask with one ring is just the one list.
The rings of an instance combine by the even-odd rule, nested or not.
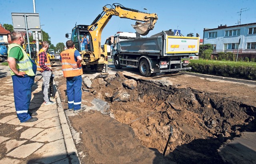
[[(54, 85), (56, 86), (55, 82), (54, 82)], [(76, 146), (74, 144), (72, 134), (70, 132), (70, 128), (68, 126), (68, 121), (67, 121), (66, 115), (64, 113), (64, 109), (62, 107), (58, 89), (56, 89), (55, 95), (57, 97), (57, 100), (56, 100), (56, 102), (58, 104), (57, 109), (58, 109), (60, 124), (61, 124), (61, 128), (62, 128), (64, 142), (66, 145), (66, 150), (67, 150), (68, 156), (70, 157), (72, 164), (81, 164), (79, 156), (78, 156), (78, 152), (76, 150)]]

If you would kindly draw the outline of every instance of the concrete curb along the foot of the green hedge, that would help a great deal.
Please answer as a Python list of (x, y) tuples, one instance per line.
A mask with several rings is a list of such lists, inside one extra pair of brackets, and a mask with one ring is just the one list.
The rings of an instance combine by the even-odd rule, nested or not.
[(198, 77), (204, 77), (204, 78), (212, 78), (212, 79), (218, 79), (218, 80), (233, 81), (233, 82), (238, 82), (238, 83), (246, 83), (246, 84), (256, 85), (256, 81), (252, 81), (252, 80), (234, 79), (234, 78), (229, 78), (229, 77), (204, 75), (204, 74), (192, 73), (192, 72), (182, 72), (182, 73), (184, 73), (186, 75), (192, 75), (192, 76), (198, 76)]

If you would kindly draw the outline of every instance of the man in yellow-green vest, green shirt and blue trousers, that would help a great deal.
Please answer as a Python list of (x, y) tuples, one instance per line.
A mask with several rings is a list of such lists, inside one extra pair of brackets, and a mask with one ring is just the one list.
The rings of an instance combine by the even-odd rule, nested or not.
[(8, 49), (8, 64), (11, 71), (14, 91), (14, 104), (21, 123), (37, 121), (36, 112), (28, 111), (32, 85), (36, 74), (36, 64), (22, 48), (24, 38), (20, 32), (11, 32), (12, 43)]

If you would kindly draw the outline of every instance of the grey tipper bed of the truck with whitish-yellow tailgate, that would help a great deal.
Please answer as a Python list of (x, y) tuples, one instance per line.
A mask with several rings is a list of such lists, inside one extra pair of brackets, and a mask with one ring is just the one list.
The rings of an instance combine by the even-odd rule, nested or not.
[(119, 41), (118, 50), (129, 54), (189, 55), (198, 53), (199, 40), (199, 37), (168, 36), (164, 33), (162, 36)]

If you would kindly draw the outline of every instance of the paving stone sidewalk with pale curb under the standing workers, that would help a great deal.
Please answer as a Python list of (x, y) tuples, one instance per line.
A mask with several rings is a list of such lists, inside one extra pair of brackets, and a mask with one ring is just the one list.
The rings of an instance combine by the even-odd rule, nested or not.
[(29, 107), (31, 112), (38, 113), (38, 121), (33, 123), (18, 120), (12, 78), (8, 67), (3, 65), (0, 65), (0, 83), (0, 163), (79, 164), (58, 92), (52, 100), (57, 102), (55, 105), (44, 105), (40, 72), (35, 77)]

